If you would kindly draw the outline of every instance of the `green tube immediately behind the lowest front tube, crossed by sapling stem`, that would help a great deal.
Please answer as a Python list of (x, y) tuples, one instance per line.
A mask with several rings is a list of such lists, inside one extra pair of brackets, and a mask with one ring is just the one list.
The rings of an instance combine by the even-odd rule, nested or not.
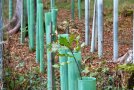
[[(68, 54), (73, 56), (70, 52)], [(81, 53), (74, 53), (74, 56), (80, 65)], [(74, 57), (68, 57), (68, 90), (78, 90), (78, 79), (80, 79), (80, 72), (75, 59)]]

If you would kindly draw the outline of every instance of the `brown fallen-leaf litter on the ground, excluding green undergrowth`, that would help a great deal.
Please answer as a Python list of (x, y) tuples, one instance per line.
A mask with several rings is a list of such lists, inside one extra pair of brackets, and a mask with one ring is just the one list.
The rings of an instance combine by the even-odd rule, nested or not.
[[(71, 14), (69, 10), (61, 9), (58, 12), (58, 23), (63, 22), (65, 20), (70, 20)], [(91, 27), (92, 20), (90, 20), (90, 35), (91, 35)], [(104, 17), (104, 56), (102, 59), (99, 59), (97, 56), (97, 52), (90, 53), (90, 46), (86, 46), (82, 50), (82, 57), (85, 60), (87, 57), (92, 56), (92, 60), (94, 63), (94, 68), (97, 67), (96, 63), (101, 61), (109, 61), (107, 62), (107, 67), (110, 69), (116, 67), (116, 64), (112, 63), (113, 58), (113, 22), (109, 20), (107, 17)], [(78, 29), (77, 33), (81, 36), (81, 41), (84, 41), (84, 18), (78, 20), (75, 18), (75, 25)], [(75, 32), (75, 31), (74, 31)], [(91, 37), (91, 36), (90, 36)], [(4, 56), (5, 63), (4, 67), (10, 67), (15, 72), (18, 73), (26, 73), (30, 71), (30, 67), (39, 67), (39, 64), (36, 64), (35, 61), (35, 52), (30, 52), (28, 48), (28, 37), (26, 37), (25, 43), (23, 45), (20, 44), (20, 32), (10, 36), (9, 42), (4, 45)], [(132, 48), (132, 18), (131, 16), (119, 16), (119, 56), (124, 55), (130, 48)], [(90, 63), (90, 59), (86, 60), (85, 64)], [(24, 67), (19, 69), (16, 66), (23, 61), (25, 63)], [(45, 64), (46, 62), (45, 58)], [(111, 62), (110, 62), (111, 61)], [(46, 69), (46, 67), (45, 67)], [(57, 78), (59, 78), (59, 74), (56, 73)], [(46, 78), (46, 73), (43, 75)]]

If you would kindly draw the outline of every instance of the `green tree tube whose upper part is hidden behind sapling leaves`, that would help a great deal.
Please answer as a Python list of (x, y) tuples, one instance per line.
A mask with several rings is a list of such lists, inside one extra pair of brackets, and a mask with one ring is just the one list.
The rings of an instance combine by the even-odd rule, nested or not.
[[(69, 38), (69, 34), (60, 34), (58, 35), (58, 38), (60, 37), (66, 37)], [(67, 54), (68, 49), (60, 49), (60, 54)], [(68, 90), (68, 65), (67, 65), (67, 56), (59, 56), (59, 62), (60, 62), (60, 84), (61, 84), (61, 90)]]

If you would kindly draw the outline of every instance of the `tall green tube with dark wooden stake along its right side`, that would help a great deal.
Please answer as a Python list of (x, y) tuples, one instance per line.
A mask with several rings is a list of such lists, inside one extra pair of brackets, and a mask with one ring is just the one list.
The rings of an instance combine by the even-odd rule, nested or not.
[[(45, 28), (46, 28), (46, 44), (49, 45), (51, 43), (51, 31), (50, 29), (50, 23), (51, 23), (51, 12), (45, 13)], [(52, 69), (52, 56), (53, 54), (50, 52), (50, 50), (47, 48), (47, 90), (53, 90), (54, 85), (54, 71)]]

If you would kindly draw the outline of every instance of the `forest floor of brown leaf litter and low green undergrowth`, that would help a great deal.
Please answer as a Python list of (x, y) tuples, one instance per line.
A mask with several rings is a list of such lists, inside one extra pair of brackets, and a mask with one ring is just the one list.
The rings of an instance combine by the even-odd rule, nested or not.
[[(117, 70), (117, 64), (112, 63), (113, 58), (113, 21), (107, 17), (107, 14), (112, 14), (112, 11), (104, 12), (104, 52), (103, 58), (99, 59), (97, 52), (90, 53), (90, 46), (86, 46), (82, 49), (82, 61), (84, 66), (89, 66), (90, 72), (95, 74), (97, 78), (97, 90), (102, 90), (108, 86), (105, 83), (109, 77), (115, 78), (114, 85), (126, 86), (127, 85), (127, 73), (120, 77), (115, 75)], [(61, 9), (58, 11), (58, 23), (62, 23), (66, 20), (70, 21), (71, 13), (67, 9)], [(77, 32), (81, 36), (81, 41), (84, 42), (84, 18), (78, 20), (75, 18), (75, 26), (77, 29), (72, 28), (71, 32)], [(92, 20), (90, 20), (90, 35), (92, 29)], [(91, 36), (90, 36), (91, 40)], [(124, 13), (119, 16), (119, 57), (124, 55), (129, 49), (132, 48), (132, 16)], [(45, 49), (46, 51), (46, 49)], [(45, 52), (46, 53), (46, 52)], [(45, 55), (45, 65), (47, 65)], [(110, 62), (108, 62), (110, 61)], [(57, 63), (58, 61), (56, 61)], [(92, 63), (91, 63), (92, 62)], [(101, 68), (101, 71), (98, 69)], [(47, 67), (45, 66), (45, 71)], [(96, 71), (97, 70), (97, 71)], [(106, 70), (106, 72), (103, 70)], [(116, 71), (117, 70), (117, 71)], [(20, 44), (20, 32), (9, 37), (9, 41), (4, 45), (4, 71), (5, 71), (5, 86), (9, 90), (26, 90), (26, 88), (32, 88), (32, 90), (45, 90), (47, 84), (47, 71), (45, 74), (39, 73), (39, 64), (35, 60), (35, 52), (30, 52), (28, 48), (28, 37), (25, 39), (25, 43)], [(55, 70), (56, 76), (56, 88), (59, 88), (59, 69)], [(97, 74), (96, 74), (97, 72)], [(108, 72), (108, 74), (106, 74)], [(91, 73), (90, 73), (91, 74)], [(89, 76), (89, 73), (85, 74)], [(100, 77), (99, 77), (100, 76)], [(117, 79), (117, 80), (116, 80)], [(106, 84), (106, 85), (105, 85)], [(33, 87), (32, 87), (33, 86)], [(20, 89), (22, 88), (22, 89)], [(59, 89), (57, 89), (59, 90)]]

